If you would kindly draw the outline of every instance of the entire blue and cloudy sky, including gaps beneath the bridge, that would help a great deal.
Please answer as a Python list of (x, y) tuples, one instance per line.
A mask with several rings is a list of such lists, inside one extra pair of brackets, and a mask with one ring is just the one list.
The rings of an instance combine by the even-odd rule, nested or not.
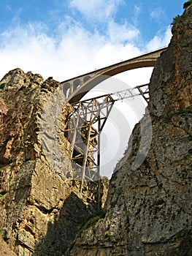
[[(173, 18), (183, 13), (183, 3), (181, 0), (0, 0), (0, 80), (18, 67), (61, 82), (164, 48), (172, 37)], [(93, 89), (91, 95), (149, 83), (152, 71), (148, 67), (116, 75)], [(118, 88), (115, 79), (120, 81)], [(104, 151), (101, 161), (107, 176), (122, 157), (131, 130), (142, 114), (134, 113), (132, 108), (134, 116), (130, 117), (133, 103), (121, 103), (115, 105), (101, 137)], [(144, 113), (146, 104), (142, 99), (140, 104)], [(134, 122), (130, 122), (132, 119)]]

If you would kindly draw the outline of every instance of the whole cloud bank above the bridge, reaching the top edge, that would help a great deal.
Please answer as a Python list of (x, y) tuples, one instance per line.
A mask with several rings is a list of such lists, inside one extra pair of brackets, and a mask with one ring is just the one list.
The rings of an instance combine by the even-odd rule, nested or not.
[[(0, 78), (10, 69), (20, 67), (25, 72), (31, 70), (44, 78), (53, 76), (62, 81), (168, 44), (170, 29), (156, 34), (146, 48), (139, 45), (139, 29), (128, 20), (115, 21), (120, 4), (122, 0), (72, 0), (70, 13), (78, 13), (82, 19), (75, 13), (65, 14), (53, 34), (46, 23), (22, 23), (17, 14), (17, 19), (12, 19), (17, 22), (0, 34)], [(93, 20), (96, 25), (88, 29), (83, 19)], [(99, 31), (99, 26), (104, 31)]]

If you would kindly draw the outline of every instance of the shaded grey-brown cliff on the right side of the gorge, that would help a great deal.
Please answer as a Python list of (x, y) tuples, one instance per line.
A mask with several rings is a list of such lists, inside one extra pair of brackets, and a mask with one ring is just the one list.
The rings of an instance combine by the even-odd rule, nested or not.
[[(172, 33), (150, 80), (150, 118), (134, 128), (112, 175), (106, 216), (67, 255), (192, 255), (192, 6)], [(150, 150), (133, 168), (150, 125)]]

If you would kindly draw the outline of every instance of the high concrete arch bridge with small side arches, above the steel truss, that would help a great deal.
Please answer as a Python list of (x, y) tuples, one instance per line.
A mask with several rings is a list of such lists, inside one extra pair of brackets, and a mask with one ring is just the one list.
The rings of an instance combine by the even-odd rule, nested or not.
[(164, 52), (164, 50), (166, 50), (166, 48), (161, 48), (160, 50), (145, 53), (133, 59), (121, 61), (118, 64), (113, 64), (108, 67), (97, 69), (85, 75), (80, 75), (61, 82), (67, 102), (79, 102), (80, 99), (85, 96), (88, 91), (93, 89), (94, 86), (113, 75), (117, 75), (121, 72), (137, 69), (140, 67), (154, 67), (156, 60), (161, 55), (161, 53)]

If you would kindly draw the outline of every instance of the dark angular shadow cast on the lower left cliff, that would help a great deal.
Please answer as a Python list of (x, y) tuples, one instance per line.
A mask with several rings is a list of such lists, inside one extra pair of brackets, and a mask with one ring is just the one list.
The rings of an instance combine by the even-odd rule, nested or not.
[(49, 222), (47, 235), (37, 244), (33, 256), (64, 255), (66, 249), (74, 241), (77, 227), (82, 224), (90, 212), (80, 197), (72, 192), (66, 198), (54, 222)]

